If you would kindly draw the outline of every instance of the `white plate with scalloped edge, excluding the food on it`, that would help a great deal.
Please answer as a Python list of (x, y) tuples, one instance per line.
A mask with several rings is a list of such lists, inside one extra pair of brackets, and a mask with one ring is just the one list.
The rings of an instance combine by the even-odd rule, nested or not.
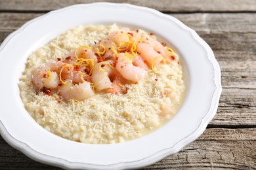
[[(181, 109), (154, 133), (119, 144), (76, 143), (46, 131), (26, 112), (19, 96), (18, 80), (29, 54), (76, 25), (113, 23), (153, 32), (179, 52), (186, 81)], [(74, 5), (35, 18), (5, 39), (0, 59), (1, 135), (30, 158), (66, 169), (137, 168), (179, 152), (203, 133), (221, 95), (219, 65), (195, 31), (157, 10), (127, 4)]]

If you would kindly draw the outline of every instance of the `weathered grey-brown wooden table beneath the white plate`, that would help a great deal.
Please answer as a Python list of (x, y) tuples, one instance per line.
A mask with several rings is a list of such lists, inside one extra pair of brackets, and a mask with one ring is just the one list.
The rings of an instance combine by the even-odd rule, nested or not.
[[(0, 42), (50, 10), (92, 2), (0, 0)], [(256, 169), (256, 0), (110, 2), (150, 7), (178, 18), (211, 46), (221, 66), (219, 109), (203, 135), (145, 169)], [(31, 160), (0, 137), (0, 169), (59, 168)]]

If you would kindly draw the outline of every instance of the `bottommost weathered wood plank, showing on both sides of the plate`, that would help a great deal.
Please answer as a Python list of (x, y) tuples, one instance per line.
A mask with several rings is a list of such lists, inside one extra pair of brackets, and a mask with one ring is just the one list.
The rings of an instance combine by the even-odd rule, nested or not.
[[(179, 153), (144, 169), (253, 169), (256, 167), (256, 129), (206, 129)], [(59, 169), (15, 150), (0, 137), (0, 169)]]

